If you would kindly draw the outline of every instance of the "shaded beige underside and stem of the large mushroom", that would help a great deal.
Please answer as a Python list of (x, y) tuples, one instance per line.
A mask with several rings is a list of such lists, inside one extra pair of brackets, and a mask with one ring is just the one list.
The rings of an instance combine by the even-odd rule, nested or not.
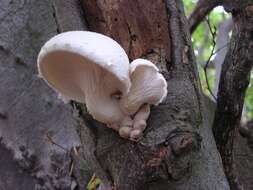
[(75, 53), (56, 51), (44, 57), (40, 70), (43, 78), (63, 97), (86, 103), (94, 119), (113, 124), (124, 118), (119, 107), (124, 84), (94, 62)]

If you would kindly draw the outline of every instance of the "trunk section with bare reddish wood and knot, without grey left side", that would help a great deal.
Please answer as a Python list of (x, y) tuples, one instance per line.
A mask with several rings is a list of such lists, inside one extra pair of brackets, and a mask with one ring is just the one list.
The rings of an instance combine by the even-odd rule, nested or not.
[[(95, 133), (89, 127), (80, 130), (83, 156), (91, 168), (98, 169), (105, 185), (118, 189), (229, 189), (211, 135), (212, 118), (204, 114), (207, 109), (182, 5), (141, 0), (82, 4), (91, 30), (116, 39), (130, 59), (145, 57), (158, 64), (168, 82), (167, 99), (152, 108), (138, 143), (100, 127), (82, 106), (76, 106), (86, 125), (99, 125)], [(92, 145), (86, 140), (90, 134)], [(87, 155), (90, 149), (94, 152)]]

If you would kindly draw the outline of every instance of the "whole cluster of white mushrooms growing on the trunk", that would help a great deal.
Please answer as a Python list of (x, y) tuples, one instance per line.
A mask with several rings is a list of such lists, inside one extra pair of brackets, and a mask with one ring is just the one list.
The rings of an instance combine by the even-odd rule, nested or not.
[(116, 41), (95, 32), (51, 38), (39, 53), (38, 70), (64, 101), (85, 103), (95, 120), (134, 141), (147, 125), (150, 105), (167, 95), (167, 83), (153, 63), (129, 63)]

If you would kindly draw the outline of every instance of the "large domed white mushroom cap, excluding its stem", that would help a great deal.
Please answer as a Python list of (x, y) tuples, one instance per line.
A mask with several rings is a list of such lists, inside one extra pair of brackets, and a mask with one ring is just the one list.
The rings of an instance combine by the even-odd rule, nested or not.
[(118, 80), (119, 90), (124, 93), (129, 90), (128, 57), (116, 41), (102, 34), (87, 31), (61, 33), (51, 38), (38, 56), (39, 75), (59, 93), (79, 102), (85, 100), (80, 87), (74, 85), (76, 72), (86, 72), (86, 67), (92, 66), (113, 75)]

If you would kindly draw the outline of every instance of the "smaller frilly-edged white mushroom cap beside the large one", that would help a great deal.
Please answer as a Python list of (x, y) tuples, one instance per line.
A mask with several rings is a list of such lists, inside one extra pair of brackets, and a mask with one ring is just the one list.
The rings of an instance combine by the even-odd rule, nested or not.
[(143, 104), (158, 105), (167, 95), (167, 82), (158, 68), (146, 59), (130, 64), (131, 88), (120, 100), (124, 113), (134, 114)]

